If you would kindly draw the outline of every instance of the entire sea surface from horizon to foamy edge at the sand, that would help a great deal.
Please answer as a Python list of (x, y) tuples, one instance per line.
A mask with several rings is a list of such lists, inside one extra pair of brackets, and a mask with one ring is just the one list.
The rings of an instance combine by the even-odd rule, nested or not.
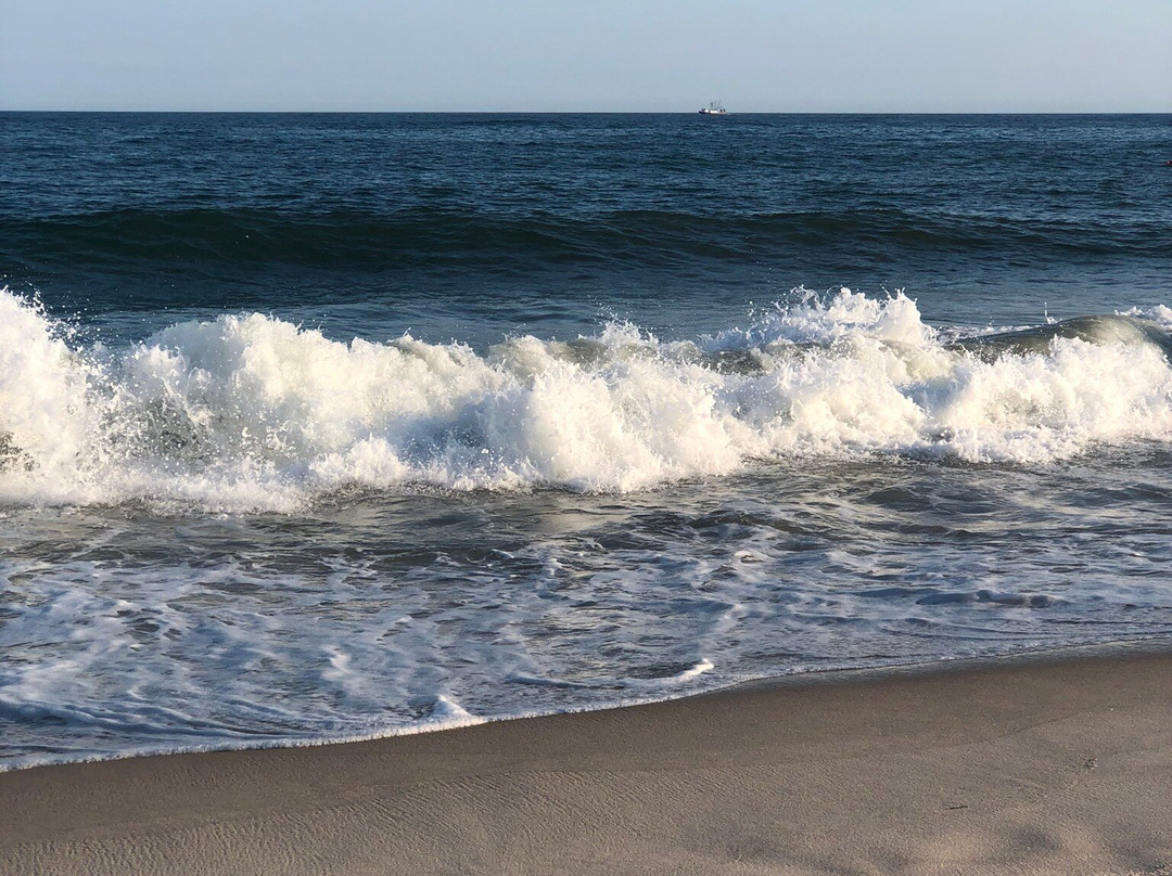
[(0, 768), (1168, 641), (1168, 160), (0, 114)]

